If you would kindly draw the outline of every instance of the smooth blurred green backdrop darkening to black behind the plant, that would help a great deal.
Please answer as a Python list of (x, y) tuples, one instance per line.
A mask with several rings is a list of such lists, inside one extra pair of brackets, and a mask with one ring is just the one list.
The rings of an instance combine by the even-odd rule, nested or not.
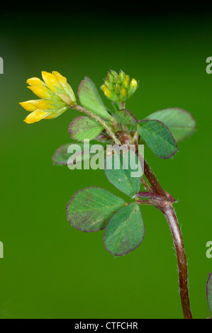
[[(68, 126), (79, 113), (27, 125), (20, 101), (35, 99), (26, 79), (57, 70), (74, 91), (84, 76), (100, 86), (109, 69), (140, 80), (127, 103), (139, 118), (168, 107), (194, 115), (197, 130), (169, 160), (145, 149), (163, 188), (177, 198), (189, 263), (195, 318), (209, 316), (206, 257), (211, 227), (211, 15), (192, 13), (111, 17), (46, 13), (1, 14), (1, 318), (181, 318), (177, 259), (162, 213), (141, 208), (143, 244), (116, 258), (103, 232), (75, 230), (65, 206), (83, 187), (124, 196), (103, 171), (53, 166), (52, 154), (69, 142)], [(106, 101), (108, 105), (108, 101)]]

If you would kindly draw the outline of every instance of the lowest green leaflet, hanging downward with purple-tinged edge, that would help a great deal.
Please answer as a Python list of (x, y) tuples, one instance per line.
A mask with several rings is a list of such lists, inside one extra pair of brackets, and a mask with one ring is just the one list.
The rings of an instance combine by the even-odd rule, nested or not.
[(108, 252), (123, 256), (143, 241), (145, 226), (137, 203), (130, 203), (113, 215), (104, 231), (104, 245)]

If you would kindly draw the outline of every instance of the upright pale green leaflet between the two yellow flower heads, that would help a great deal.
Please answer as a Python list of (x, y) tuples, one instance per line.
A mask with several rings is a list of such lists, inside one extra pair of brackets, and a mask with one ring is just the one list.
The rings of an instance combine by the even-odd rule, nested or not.
[(78, 98), (82, 106), (100, 117), (111, 120), (111, 115), (106, 111), (106, 106), (104, 106), (94, 82), (89, 77), (85, 77), (79, 84)]

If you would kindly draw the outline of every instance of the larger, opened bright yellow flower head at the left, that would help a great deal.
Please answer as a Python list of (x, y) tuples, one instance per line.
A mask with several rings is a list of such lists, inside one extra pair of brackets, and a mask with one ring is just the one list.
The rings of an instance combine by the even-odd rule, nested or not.
[(19, 103), (26, 111), (30, 111), (30, 115), (24, 120), (28, 124), (56, 118), (76, 103), (72, 87), (59, 72), (42, 72), (42, 77), (43, 81), (38, 77), (31, 77), (26, 81), (28, 88), (41, 99)]

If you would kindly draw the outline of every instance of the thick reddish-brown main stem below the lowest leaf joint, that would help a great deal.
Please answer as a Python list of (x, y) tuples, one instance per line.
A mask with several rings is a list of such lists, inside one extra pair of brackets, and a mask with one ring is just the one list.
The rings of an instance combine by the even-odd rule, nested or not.
[(160, 210), (162, 211), (162, 213), (164, 213), (164, 216), (167, 219), (167, 222), (169, 223), (169, 227), (172, 231), (172, 236), (174, 239), (174, 247), (176, 250), (177, 262), (178, 262), (179, 293), (180, 293), (184, 318), (192, 319), (190, 303), (189, 303), (187, 262), (186, 262), (184, 243), (182, 239), (182, 233), (179, 228), (177, 216), (174, 213), (174, 208), (172, 207), (172, 205), (167, 205), (166, 208), (161, 208)]

